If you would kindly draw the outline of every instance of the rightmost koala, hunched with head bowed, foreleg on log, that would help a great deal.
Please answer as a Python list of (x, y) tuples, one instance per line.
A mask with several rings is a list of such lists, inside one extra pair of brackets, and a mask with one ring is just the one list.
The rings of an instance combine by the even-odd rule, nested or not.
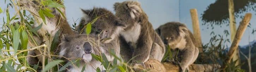
[(171, 49), (179, 49), (179, 66), (182, 72), (189, 70), (189, 65), (193, 64), (199, 54), (198, 46), (195, 46), (195, 38), (185, 24), (170, 22), (159, 26), (155, 30), (164, 44)]

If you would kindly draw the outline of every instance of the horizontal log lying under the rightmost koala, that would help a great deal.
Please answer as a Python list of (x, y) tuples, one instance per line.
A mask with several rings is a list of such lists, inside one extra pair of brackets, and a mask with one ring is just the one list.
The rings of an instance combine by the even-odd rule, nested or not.
[[(163, 65), (166, 68), (166, 72), (179, 72), (180, 70), (178, 65), (167, 62), (163, 63)], [(192, 64), (189, 66), (189, 72), (214, 72), (213, 70), (216, 70), (220, 67), (220, 65), (216, 64)]]

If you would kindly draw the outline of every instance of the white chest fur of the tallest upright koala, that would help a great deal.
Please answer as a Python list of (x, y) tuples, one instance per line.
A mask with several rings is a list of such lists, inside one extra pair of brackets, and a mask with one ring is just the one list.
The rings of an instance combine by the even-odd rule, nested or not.
[(141, 34), (141, 25), (136, 23), (131, 29), (121, 32), (127, 43), (131, 42), (132, 47), (136, 48), (139, 35)]

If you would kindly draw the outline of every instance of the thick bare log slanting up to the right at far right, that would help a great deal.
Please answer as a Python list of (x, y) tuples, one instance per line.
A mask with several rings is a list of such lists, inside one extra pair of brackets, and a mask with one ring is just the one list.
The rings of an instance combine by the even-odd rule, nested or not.
[[(228, 51), (228, 58), (226, 59), (225, 63), (229, 64), (233, 55), (234, 55), (234, 51), (238, 48), (238, 44), (244, 34), (245, 29), (247, 28), (250, 20), (251, 20), (251, 13), (246, 13), (244, 16), (244, 19), (242, 20), (242, 22), (240, 22), (240, 25), (237, 29), (236, 35), (234, 37), (234, 40), (231, 44), (230, 50)], [(224, 68), (226, 67), (226, 65), (223, 65)]]

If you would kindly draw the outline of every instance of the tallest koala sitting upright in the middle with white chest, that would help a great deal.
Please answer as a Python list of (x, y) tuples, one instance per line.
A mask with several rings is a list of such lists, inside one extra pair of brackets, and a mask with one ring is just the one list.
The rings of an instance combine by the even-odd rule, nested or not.
[(161, 61), (165, 54), (165, 46), (148, 21), (147, 14), (142, 10), (140, 3), (117, 2), (114, 4), (114, 11), (115, 16), (127, 25), (120, 35), (133, 50), (130, 51), (134, 57), (132, 62), (144, 63), (148, 59)]

